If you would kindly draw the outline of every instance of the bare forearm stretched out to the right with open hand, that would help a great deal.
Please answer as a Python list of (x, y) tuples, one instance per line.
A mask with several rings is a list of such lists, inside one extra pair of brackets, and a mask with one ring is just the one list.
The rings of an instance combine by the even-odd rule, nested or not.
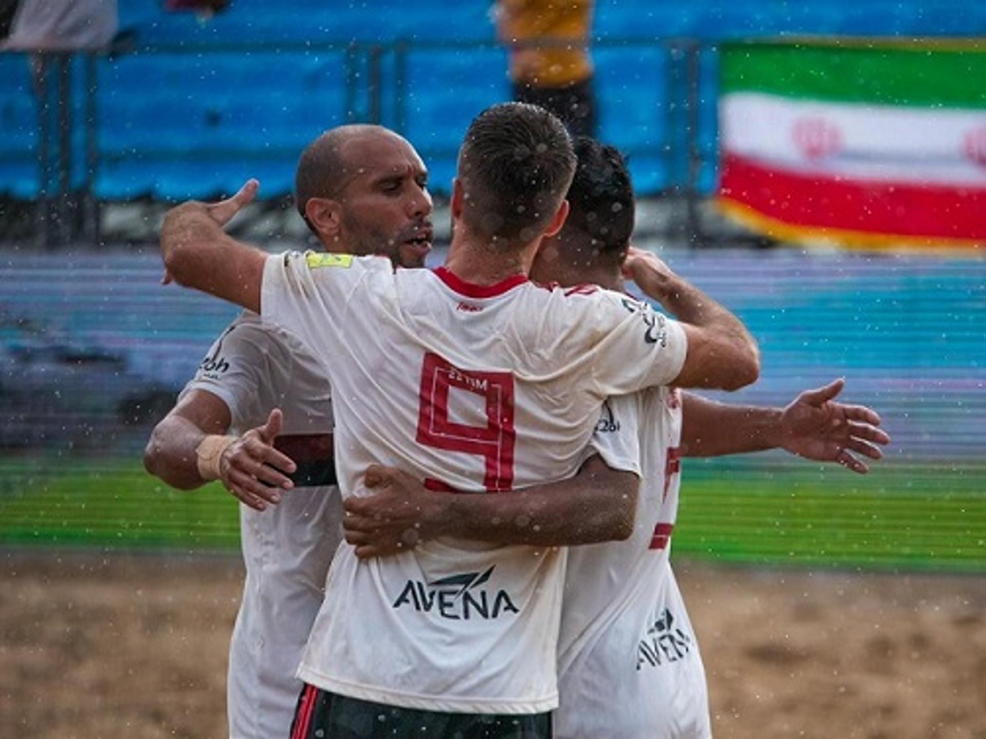
[(807, 390), (783, 408), (724, 405), (686, 393), (682, 455), (718, 457), (780, 448), (864, 475), (869, 467), (861, 457), (879, 460), (880, 446), (890, 437), (873, 408), (835, 400), (844, 386), (845, 380), (839, 379)]

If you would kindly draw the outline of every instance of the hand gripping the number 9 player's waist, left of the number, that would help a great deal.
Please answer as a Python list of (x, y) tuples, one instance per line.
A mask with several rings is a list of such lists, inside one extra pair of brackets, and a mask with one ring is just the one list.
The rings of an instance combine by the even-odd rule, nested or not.
[(436, 535), (443, 495), (405, 472), (371, 465), (364, 476), (367, 495), (343, 501), (342, 530), (360, 558), (399, 554)]

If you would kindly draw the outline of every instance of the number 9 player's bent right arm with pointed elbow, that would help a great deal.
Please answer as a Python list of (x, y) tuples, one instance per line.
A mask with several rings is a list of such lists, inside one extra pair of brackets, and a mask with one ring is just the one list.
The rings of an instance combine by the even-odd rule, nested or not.
[(674, 385), (738, 390), (756, 381), (760, 352), (740, 319), (650, 252), (631, 247), (623, 272), (678, 319), (688, 337), (684, 366)]

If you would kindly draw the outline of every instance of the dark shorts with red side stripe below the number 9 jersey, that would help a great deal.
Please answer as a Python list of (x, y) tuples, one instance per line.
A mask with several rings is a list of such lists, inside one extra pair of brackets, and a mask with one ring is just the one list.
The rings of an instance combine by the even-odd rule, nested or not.
[(302, 689), (291, 739), (550, 739), (551, 714), (438, 713)]

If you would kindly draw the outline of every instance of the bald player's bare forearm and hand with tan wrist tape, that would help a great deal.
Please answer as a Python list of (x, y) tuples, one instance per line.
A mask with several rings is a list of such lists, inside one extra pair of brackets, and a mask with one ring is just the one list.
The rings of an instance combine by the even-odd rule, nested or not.
[(229, 407), (212, 393), (194, 390), (155, 426), (144, 467), (182, 490), (221, 480), (239, 500), (263, 510), (280, 500), (280, 490), (293, 486), (280, 471), (293, 473), (294, 462), (273, 447), (280, 424), (275, 409), (262, 426), (227, 436)]

